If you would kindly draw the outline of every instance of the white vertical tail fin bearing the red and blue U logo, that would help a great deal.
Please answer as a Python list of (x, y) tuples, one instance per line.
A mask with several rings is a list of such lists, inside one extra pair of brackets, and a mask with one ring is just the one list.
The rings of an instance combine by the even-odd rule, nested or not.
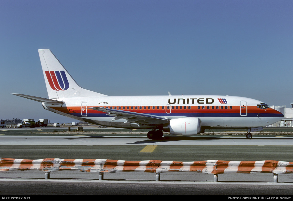
[(52, 98), (106, 96), (81, 88), (49, 49), (39, 50), (47, 92)]

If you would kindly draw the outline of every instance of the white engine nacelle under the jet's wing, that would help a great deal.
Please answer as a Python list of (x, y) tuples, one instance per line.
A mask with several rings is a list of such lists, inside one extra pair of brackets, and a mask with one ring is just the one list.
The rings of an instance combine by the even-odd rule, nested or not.
[(171, 119), (163, 127), (163, 130), (172, 135), (196, 135), (200, 134), (200, 119), (196, 117), (183, 117)]

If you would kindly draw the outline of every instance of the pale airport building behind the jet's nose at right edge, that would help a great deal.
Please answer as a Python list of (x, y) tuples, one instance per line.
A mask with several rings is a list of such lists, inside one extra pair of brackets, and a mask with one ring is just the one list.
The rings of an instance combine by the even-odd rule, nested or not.
[(281, 112), (284, 115), (284, 119), (268, 127), (293, 127), (293, 103), (291, 103), (290, 105), (292, 106), (291, 108), (286, 108), (286, 105), (283, 105), (283, 106), (272, 105), (271, 108)]

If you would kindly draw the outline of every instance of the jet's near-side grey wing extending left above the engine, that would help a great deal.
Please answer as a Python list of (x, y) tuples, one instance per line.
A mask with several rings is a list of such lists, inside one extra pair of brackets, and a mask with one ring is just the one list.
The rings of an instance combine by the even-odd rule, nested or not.
[(114, 117), (111, 121), (118, 120), (118, 119), (125, 119), (126, 121), (124, 123), (139, 123), (139, 124), (147, 124), (147, 125), (156, 125), (156, 124), (164, 124), (169, 121), (169, 119), (166, 117), (130, 112), (125, 110), (114, 110), (110, 108), (100, 108), (100, 107), (87, 108), (87, 109), (98, 110), (101, 112), (108, 113), (107, 115)]

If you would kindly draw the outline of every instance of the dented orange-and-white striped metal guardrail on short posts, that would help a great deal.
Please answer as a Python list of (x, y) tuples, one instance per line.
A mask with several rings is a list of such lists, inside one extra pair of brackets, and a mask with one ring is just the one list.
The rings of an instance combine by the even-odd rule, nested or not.
[(12, 170), (40, 170), (45, 172), (45, 178), (50, 179), (50, 172), (71, 170), (81, 172), (97, 172), (99, 180), (103, 180), (103, 173), (114, 172), (151, 172), (156, 173), (156, 181), (160, 180), (160, 173), (164, 172), (198, 172), (214, 174), (214, 182), (218, 181), (218, 174), (226, 173), (273, 173), (274, 182), (278, 182), (278, 175), (293, 173), (293, 162), (285, 161), (120, 161), (105, 159), (9, 159), (0, 158), (0, 171)]

